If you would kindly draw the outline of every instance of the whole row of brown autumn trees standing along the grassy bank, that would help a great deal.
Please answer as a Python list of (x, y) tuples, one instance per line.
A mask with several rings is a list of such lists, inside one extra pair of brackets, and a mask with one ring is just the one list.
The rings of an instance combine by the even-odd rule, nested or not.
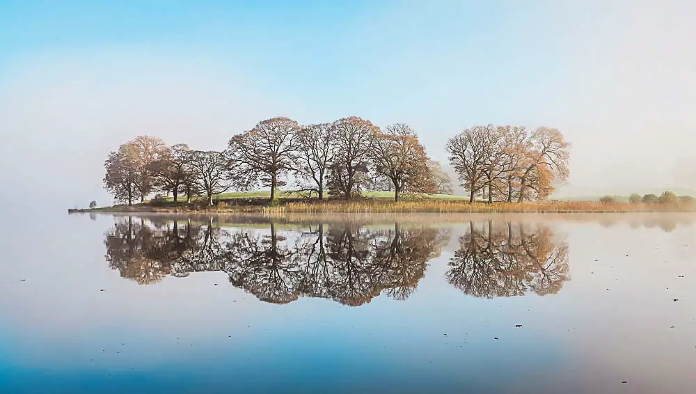
[[(453, 136), (445, 148), (450, 165), (473, 202), (544, 199), (568, 176), (569, 143), (557, 129), (476, 126)], [(441, 164), (428, 157), (418, 135), (397, 123), (380, 129), (352, 116), (333, 123), (299, 125), (290, 118), (262, 120), (236, 134), (225, 150), (168, 146), (154, 136), (138, 136), (109, 153), (104, 186), (116, 200), (132, 205), (150, 194), (213, 196), (229, 189), (278, 187), (292, 174), (306, 196), (350, 200), (366, 189), (402, 194), (452, 194)]]

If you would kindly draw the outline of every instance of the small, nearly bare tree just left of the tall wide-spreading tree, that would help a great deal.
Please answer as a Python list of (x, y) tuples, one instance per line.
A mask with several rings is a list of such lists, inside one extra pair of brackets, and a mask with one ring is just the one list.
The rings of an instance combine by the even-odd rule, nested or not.
[(196, 185), (207, 196), (208, 206), (213, 205), (213, 196), (230, 188), (228, 159), (221, 152), (196, 150), (191, 154)]

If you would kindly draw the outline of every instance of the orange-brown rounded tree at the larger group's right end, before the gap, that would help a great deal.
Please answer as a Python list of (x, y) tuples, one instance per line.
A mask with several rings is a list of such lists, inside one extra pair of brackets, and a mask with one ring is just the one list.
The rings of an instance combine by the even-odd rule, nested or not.
[(395, 202), (402, 191), (436, 191), (425, 148), (408, 125), (397, 123), (377, 132), (372, 143), (372, 161), (377, 174), (393, 184)]

